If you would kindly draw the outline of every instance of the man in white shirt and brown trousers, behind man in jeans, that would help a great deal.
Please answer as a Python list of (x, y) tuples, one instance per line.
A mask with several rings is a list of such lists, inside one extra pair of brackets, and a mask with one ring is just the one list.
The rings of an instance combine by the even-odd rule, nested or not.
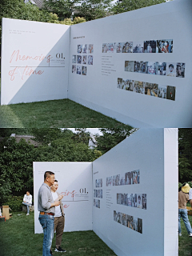
[[(58, 190), (58, 181), (55, 180), (54, 184), (50, 187), (51, 194), (53, 196), (54, 202), (58, 200), (58, 196), (61, 197), (61, 194), (57, 192)], [(63, 195), (62, 195), (63, 198)], [(60, 206), (55, 206), (54, 214), (54, 231), (56, 230), (56, 248), (54, 251), (65, 253), (66, 250), (62, 249), (62, 234), (65, 226), (65, 214), (63, 210), (62, 201), (60, 201)]]

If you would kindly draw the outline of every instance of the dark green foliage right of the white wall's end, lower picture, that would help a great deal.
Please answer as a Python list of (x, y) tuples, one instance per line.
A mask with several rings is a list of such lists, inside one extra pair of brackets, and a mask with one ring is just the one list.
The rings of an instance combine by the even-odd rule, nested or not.
[(192, 180), (192, 129), (178, 130), (178, 179), (179, 182)]

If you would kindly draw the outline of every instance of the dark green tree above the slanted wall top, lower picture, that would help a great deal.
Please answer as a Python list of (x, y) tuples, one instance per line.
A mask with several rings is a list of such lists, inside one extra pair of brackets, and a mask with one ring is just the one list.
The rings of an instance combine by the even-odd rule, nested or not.
[(131, 126), (127, 128), (101, 128), (102, 136), (97, 136), (97, 150), (105, 154), (118, 143), (122, 142), (126, 137), (133, 134), (137, 129), (133, 129)]

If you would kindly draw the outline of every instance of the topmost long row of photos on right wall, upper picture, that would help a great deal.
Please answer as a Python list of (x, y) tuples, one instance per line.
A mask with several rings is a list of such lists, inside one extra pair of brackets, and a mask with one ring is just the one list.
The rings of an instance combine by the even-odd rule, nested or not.
[(150, 40), (137, 42), (110, 42), (102, 44), (102, 53), (163, 53), (173, 52), (173, 40)]

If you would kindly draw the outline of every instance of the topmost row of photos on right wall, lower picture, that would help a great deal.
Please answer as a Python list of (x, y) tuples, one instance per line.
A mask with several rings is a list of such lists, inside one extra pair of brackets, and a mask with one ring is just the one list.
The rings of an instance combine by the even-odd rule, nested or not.
[(132, 184), (139, 184), (140, 182), (140, 171), (133, 170), (127, 172), (126, 174), (120, 174), (106, 177), (106, 186), (122, 186), (122, 185), (132, 185)]

